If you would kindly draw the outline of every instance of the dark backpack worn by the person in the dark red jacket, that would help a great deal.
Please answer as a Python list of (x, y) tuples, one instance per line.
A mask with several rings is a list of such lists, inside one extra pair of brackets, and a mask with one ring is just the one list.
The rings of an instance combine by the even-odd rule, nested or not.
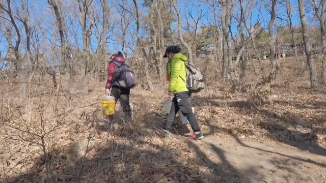
[(127, 89), (133, 88), (136, 85), (134, 72), (127, 64), (115, 60), (112, 62), (117, 66), (114, 76), (115, 80), (119, 83), (119, 86)]

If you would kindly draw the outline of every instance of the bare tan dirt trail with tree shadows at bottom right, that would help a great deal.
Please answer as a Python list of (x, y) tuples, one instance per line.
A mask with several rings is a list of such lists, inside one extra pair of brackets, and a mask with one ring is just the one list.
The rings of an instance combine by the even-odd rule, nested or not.
[(321, 182), (326, 177), (325, 156), (280, 142), (206, 136), (195, 143), (205, 146), (211, 161), (222, 163), (244, 181)]

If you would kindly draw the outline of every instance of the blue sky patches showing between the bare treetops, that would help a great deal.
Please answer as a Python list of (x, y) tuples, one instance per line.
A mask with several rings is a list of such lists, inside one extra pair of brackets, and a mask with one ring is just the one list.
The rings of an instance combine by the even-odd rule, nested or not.
[[(130, 1), (130, 4), (128, 4), (128, 5), (130, 7), (132, 7), (133, 6), (132, 1), (131, 0), (128, 0), (128, 1)], [(19, 1), (12, 1), (12, 2), (15, 2), (18, 7), (20, 6)], [(66, 1), (66, 2), (67, 2), (66, 3), (67, 6), (72, 7), (70, 1)], [(94, 0), (94, 2), (98, 2), (98, 1)], [(28, 0), (28, 4), (29, 4), (29, 7), (31, 9), (33, 9), (33, 11), (30, 11), (31, 12), (31, 23), (35, 24), (35, 23), (41, 22), (42, 26), (44, 26), (44, 28), (47, 29), (47, 31), (48, 31), (47, 32), (47, 34), (48, 34), (47, 38), (51, 39), (52, 32), (53, 32), (52, 31), (53, 22), (55, 22), (55, 17), (53, 16), (53, 13), (49, 9), (49, 5), (47, 4), (47, 1), (44, 1), (44, 0)], [(179, 9), (181, 10), (181, 14), (183, 15), (183, 17), (188, 16), (188, 15), (184, 14), (188, 4), (194, 6), (193, 15), (195, 17), (198, 16), (198, 12), (196, 11), (195, 7), (199, 6), (203, 12), (207, 12), (207, 17), (205, 17), (200, 22), (200, 25), (208, 25), (209, 22), (212, 21), (212, 19), (211, 19), (212, 13), (210, 12), (209, 5), (207, 3), (202, 2), (202, 1), (179, 0), (177, 5), (178, 5)], [(291, 0), (291, 4), (294, 7), (293, 25), (300, 24), (300, 19), (298, 18), (298, 13), (297, 13), (297, 9), (298, 9), (297, 8), (297, 1), (296, 0)], [(110, 5), (112, 5), (112, 3)], [(117, 5), (117, 4), (115, 3), (115, 5)], [(140, 6), (140, 11), (143, 12), (144, 14), (146, 14), (146, 11), (147, 11), (146, 7), (142, 7), (141, 3), (139, 4), (139, 6)], [(115, 9), (116, 8), (113, 8), (113, 16), (117, 17), (118, 15), (117, 15), (117, 11), (115, 11)], [(268, 9), (268, 7), (262, 7), (261, 12), (259, 12), (256, 9), (254, 11), (254, 13), (253, 13), (254, 14), (253, 22), (256, 22), (258, 17), (260, 17), (260, 21), (261, 21), (262, 26), (264, 26), (266, 28), (267, 25), (268, 25), (268, 21), (270, 19), (270, 15), (269, 15), (267, 9)], [(277, 9), (278, 9), (278, 12), (277, 12), (278, 16), (282, 17), (283, 19), (286, 19), (285, 7), (278, 4)], [(76, 10), (76, 11), (78, 11), (78, 10)], [(69, 14), (69, 15), (71, 15), (71, 14)], [(308, 18), (309, 18), (309, 13), (307, 15), (308, 15)], [(77, 14), (76, 14), (76, 16), (77, 16)], [(311, 15), (310, 15), (310, 17), (311, 17)], [(65, 18), (66, 18), (66, 20), (68, 20), (67, 17), (65, 17)], [(185, 21), (185, 18), (183, 19), (183, 23), (184, 23), (184, 21)], [(75, 19), (75, 22), (73, 22), (73, 23), (75, 25), (77, 25), (79, 22), (78, 22), (77, 19)], [(278, 25), (286, 25), (287, 23), (286, 23), (286, 21), (277, 19), (277, 24)], [(133, 22), (131, 24), (131, 26), (132, 27), (131, 27), (130, 30), (131, 30), (131, 32), (133, 32), (135, 23)], [(21, 31), (23, 32), (23, 28), (22, 28), (21, 23), (20, 23), (19, 27), (21, 28)], [(177, 27), (177, 24), (174, 23), (172, 25), (172, 28), (176, 29), (176, 27)], [(81, 34), (81, 31), (80, 31), (80, 26), (76, 27), (76, 28), (78, 29), (78, 40), (77, 40), (77, 42), (78, 42), (79, 48), (82, 49), (82, 34)], [(233, 32), (233, 34), (236, 34), (236, 32), (237, 32), (235, 24), (233, 24), (232, 32)], [(131, 39), (131, 37), (128, 37), (128, 39)], [(72, 39), (72, 37), (71, 37), (71, 41), (72, 41), (72, 43), (74, 45), (75, 41)], [(24, 43), (22, 42), (21, 44), (23, 45)], [(47, 45), (48, 48), (49, 48), (49, 45), (50, 44), (48, 43), (48, 45)], [(59, 46), (59, 40), (57, 42), (57, 45)], [(96, 42), (95, 36), (92, 37), (92, 46), (93, 46), (94, 50), (97, 48), (97, 42)], [(4, 56), (7, 53), (7, 50), (8, 50), (8, 44), (7, 44), (6, 40), (3, 38), (3, 35), (0, 33), (0, 51), (2, 52), (2, 56)], [(107, 44), (107, 50), (110, 51), (110, 52), (116, 52), (118, 50), (121, 50), (121, 44), (119, 42), (115, 41), (115, 40), (109, 40), (109, 43)], [(22, 51), (23, 51), (23, 49), (22, 49)]]

